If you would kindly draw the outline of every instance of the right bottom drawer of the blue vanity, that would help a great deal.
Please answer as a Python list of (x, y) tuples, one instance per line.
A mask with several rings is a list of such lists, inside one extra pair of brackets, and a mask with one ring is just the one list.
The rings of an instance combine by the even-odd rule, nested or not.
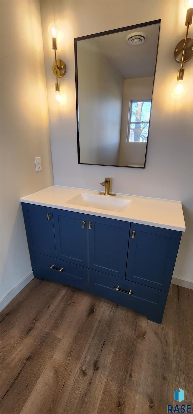
[(162, 323), (167, 299), (166, 292), (94, 270), (89, 270), (89, 290), (142, 313), (154, 322)]

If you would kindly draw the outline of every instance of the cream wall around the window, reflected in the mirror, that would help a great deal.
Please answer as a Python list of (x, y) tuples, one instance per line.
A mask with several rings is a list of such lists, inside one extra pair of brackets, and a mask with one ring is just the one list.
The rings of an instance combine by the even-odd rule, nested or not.
[(154, 77), (125, 79), (119, 165), (144, 166), (146, 142), (127, 142), (128, 112), (130, 101), (152, 99)]

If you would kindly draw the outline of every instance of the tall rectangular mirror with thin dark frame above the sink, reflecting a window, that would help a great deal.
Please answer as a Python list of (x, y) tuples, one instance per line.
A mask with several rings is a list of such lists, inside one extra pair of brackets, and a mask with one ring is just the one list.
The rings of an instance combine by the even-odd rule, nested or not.
[(79, 164), (145, 168), (160, 22), (75, 39)]

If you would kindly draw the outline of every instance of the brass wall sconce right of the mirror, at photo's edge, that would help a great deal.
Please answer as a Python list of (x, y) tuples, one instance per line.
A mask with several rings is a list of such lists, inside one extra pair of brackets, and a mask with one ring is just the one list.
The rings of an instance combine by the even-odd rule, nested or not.
[(182, 39), (177, 44), (175, 51), (174, 51), (174, 58), (176, 62), (181, 63), (181, 68), (178, 71), (177, 82), (175, 83), (173, 90), (172, 90), (175, 96), (182, 95), (186, 89), (186, 85), (184, 84), (184, 81), (183, 81), (183, 75), (184, 75), (183, 64), (185, 62), (188, 62), (188, 60), (190, 60), (193, 56), (193, 39), (190, 39), (188, 37), (188, 29), (189, 29), (189, 26), (192, 24), (192, 17), (193, 17), (193, 8), (190, 8), (187, 10), (187, 13), (186, 13), (186, 22), (185, 22), (185, 26), (187, 26), (186, 37), (185, 39)]

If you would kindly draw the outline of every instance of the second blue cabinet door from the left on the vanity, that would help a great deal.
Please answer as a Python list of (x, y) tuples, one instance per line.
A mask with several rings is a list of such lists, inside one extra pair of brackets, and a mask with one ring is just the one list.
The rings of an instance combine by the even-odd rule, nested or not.
[(88, 267), (87, 214), (53, 209), (56, 257)]

